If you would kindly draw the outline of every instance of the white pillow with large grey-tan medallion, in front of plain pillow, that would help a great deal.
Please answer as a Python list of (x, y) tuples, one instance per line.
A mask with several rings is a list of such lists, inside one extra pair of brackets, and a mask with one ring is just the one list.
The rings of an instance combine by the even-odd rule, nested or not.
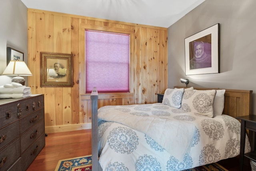
[(213, 117), (213, 101), (216, 90), (192, 90), (185, 91), (182, 98), (181, 108), (185, 111)]

